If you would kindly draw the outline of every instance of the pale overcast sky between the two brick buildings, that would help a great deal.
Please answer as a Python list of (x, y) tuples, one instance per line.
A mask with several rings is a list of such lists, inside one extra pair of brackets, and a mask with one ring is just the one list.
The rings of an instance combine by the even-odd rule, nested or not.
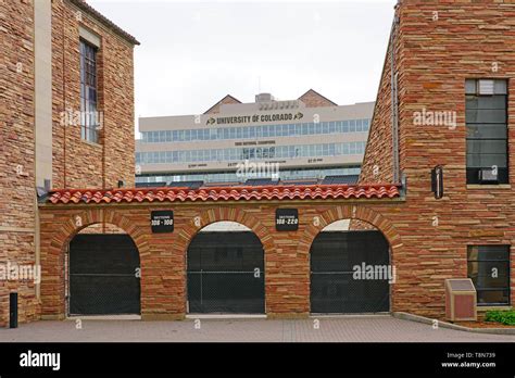
[(260, 90), (375, 101), (397, 1), (88, 2), (141, 42), (138, 117), (199, 114), (227, 93), (252, 102)]

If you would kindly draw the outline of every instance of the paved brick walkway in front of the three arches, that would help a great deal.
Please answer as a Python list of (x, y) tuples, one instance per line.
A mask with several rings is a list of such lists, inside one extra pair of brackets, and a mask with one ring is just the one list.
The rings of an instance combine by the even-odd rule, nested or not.
[(0, 342), (27, 341), (256, 341), (256, 342), (515, 342), (515, 336), (485, 335), (431, 326), (390, 316), (319, 317), (301, 320), (201, 319), (184, 322), (36, 322), (0, 329)]

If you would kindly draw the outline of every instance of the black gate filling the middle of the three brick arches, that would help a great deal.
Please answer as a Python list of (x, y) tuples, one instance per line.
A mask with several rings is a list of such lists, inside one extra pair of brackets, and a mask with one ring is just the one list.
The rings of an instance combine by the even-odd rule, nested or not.
[(263, 314), (264, 251), (253, 232), (200, 232), (188, 248), (190, 313)]

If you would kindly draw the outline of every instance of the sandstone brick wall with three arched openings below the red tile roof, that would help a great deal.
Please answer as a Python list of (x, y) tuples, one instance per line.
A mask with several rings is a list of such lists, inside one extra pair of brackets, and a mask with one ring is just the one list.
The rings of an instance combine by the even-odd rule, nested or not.
[[(369, 201), (240, 201), (228, 203), (142, 203), (95, 205), (45, 205), (41, 207), (43, 281), (42, 315), (62, 318), (64, 301), (64, 248), (83, 226), (108, 222), (123, 228), (138, 247), (141, 264), (141, 314), (145, 319), (177, 319), (186, 314), (186, 254), (200, 229), (219, 220), (249, 227), (265, 252), (265, 302), (269, 317), (305, 317), (310, 313), (310, 249), (316, 235), (340, 219), (362, 219), (374, 224), (390, 242), (394, 255), (401, 240), (390, 215), (399, 200)], [(278, 206), (299, 209), (299, 230), (275, 229)], [(150, 212), (174, 210), (174, 232), (152, 234)], [(200, 225), (194, 219), (200, 218)], [(59, 230), (59, 231), (58, 231)], [(395, 303), (392, 310), (404, 311)]]

